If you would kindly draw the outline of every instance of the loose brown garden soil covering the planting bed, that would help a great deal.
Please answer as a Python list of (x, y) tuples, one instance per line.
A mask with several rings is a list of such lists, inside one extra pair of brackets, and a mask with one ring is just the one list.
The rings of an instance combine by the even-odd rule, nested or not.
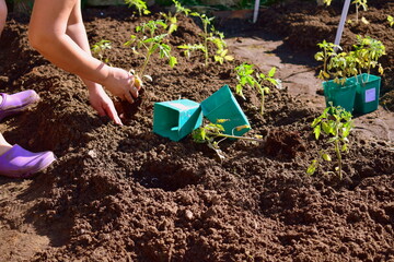
[[(262, 10), (255, 25), (221, 23), (230, 43), (247, 43), (256, 29), (271, 37), (260, 38), (265, 43), (275, 36), (282, 45), (271, 55), (289, 76), (286, 88), (271, 88), (264, 117), (254, 91), (244, 91), (246, 100), (236, 96), (252, 124), (247, 134), (266, 140), (223, 141), (222, 162), (190, 136), (172, 142), (154, 134), (153, 105), (200, 103), (224, 84), (234, 88), (233, 69), (245, 59), (235, 44), (233, 62), (205, 67), (201, 56), (187, 60), (175, 46), (200, 41), (200, 28), (182, 17), (169, 41), (179, 64), (152, 61), (147, 73), (153, 82), (146, 83), (137, 106), (117, 103), (126, 123), (118, 127), (91, 109), (77, 76), (28, 46), (27, 17), (12, 14), (0, 41), (0, 88), (33, 88), (42, 100), (3, 121), (0, 131), (31, 151), (54, 151), (58, 160), (33, 179), (0, 178), (0, 261), (394, 261), (394, 127), (387, 111), (394, 108), (394, 28), (385, 22), (394, 7), (374, 2), (363, 13), (371, 24), (347, 28), (344, 45), (369, 34), (386, 46), (382, 104), (356, 119), (343, 180), (328, 172), (334, 163), (305, 176), (324, 146), (310, 128), (324, 99), (316, 90), (297, 95), (291, 87), (305, 83), (289, 76), (299, 66), (317, 71), (310, 58), (316, 43), (333, 40), (340, 7), (301, 1)], [(112, 64), (141, 64), (123, 43), (151, 17), (134, 17), (126, 8), (88, 9), (84, 16), (91, 43), (113, 41)], [(385, 136), (358, 135), (375, 122)]]

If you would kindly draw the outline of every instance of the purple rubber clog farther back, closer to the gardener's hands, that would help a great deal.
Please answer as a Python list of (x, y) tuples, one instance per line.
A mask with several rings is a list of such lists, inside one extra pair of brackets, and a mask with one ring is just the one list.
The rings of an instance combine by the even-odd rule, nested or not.
[(35, 91), (27, 90), (22, 91), (13, 95), (0, 93), (2, 102), (0, 104), (0, 121), (8, 116), (21, 112), (28, 106), (37, 103), (39, 96)]

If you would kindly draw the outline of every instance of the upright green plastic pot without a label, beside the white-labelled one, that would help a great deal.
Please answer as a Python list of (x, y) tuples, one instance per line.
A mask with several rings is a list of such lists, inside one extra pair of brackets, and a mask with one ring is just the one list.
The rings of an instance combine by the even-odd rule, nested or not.
[(354, 81), (348, 79), (345, 84), (341, 85), (331, 80), (323, 82), (323, 88), (327, 107), (329, 107), (329, 103), (333, 103), (335, 107), (340, 106), (349, 112), (354, 111), (357, 88), (357, 84)]

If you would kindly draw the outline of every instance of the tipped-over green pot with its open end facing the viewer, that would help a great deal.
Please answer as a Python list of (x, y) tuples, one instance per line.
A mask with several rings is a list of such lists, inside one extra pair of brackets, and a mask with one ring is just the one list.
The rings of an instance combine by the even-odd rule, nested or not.
[(153, 132), (179, 141), (202, 123), (200, 105), (189, 99), (155, 103)]

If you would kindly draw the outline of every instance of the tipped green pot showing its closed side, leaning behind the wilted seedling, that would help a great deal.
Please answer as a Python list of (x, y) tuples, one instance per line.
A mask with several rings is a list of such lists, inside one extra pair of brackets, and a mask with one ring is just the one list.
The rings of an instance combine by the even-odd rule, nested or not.
[[(225, 119), (220, 122), (224, 128), (225, 134), (241, 136), (251, 130), (245, 114), (242, 111), (239, 103), (231, 93), (228, 85), (223, 85), (219, 91), (215, 92), (207, 99), (201, 102), (202, 115), (212, 123), (218, 123), (218, 119)], [(247, 126), (248, 128), (236, 130), (236, 127)]]

